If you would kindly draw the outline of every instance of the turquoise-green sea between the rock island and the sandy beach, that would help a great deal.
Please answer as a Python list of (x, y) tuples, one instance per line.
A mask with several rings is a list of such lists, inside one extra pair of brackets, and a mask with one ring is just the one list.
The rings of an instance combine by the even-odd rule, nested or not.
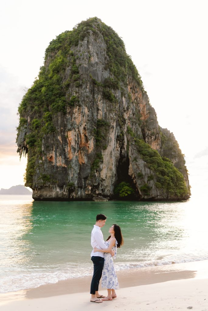
[(91, 231), (98, 213), (121, 226), (116, 270), (208, 259), (206, 203), (34, 202), (0, 196), (0, 292), (92, 274)]

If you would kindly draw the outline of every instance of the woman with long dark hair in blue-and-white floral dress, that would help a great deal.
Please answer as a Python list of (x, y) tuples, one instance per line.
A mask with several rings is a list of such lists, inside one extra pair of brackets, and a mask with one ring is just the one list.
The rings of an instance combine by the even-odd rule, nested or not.
[[(121, 234), (121, 228), (119, 225), (112, 225), (109, 229), (109, 237), (106, 240), (106, 245), (108, 248), (106, 249), (99, 249), (94, 248), (94, 252), (102, 252), (104, 254), (104, 266), (102, 270), (102, 287), (106, 287), (108, 291), (108, 295), (103, 298), (102, 300), (112, 300), (116, 298), (116, 289), (119, 289), (118, 279), (116, 276), (116, 272), (113, 265), (113, 258), (116, 258), (117, 247), (121, 247), (124, 244), (123, 237)], [(112, 257), (109, 253), (111, 249), (115, 252), (114, 256)]]

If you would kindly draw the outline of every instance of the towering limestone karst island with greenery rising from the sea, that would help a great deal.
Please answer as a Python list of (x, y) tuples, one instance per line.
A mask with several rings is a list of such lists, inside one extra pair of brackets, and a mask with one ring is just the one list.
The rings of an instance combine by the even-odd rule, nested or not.
[(97, 17), (50, 42), (19, 106), (35, 200), (186, 200), (184, 156), (158, 125), (122, 39)]

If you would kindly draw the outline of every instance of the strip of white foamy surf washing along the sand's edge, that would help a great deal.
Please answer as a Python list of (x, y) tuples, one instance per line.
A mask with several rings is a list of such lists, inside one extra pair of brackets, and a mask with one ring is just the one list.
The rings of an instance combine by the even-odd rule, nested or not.
[[(140, 262), (115, 262), (116, 271), (123, 269), (133, 269), (151, 266), (161, 266), (169, 265), (173, 263), (182, 262), (194, 262), (200, 260), (208, 259), (208, 252), (203, 255), (200, 254), (177, 254), (169, 255), (163, 259), (155, 259), (149, 261)], [(86, 263), (78, 265), (78, 263), (73, 263), (73, 265), (60, 265), (59, 267), (53, 269), (35, 269), (28, 273), (23, 272), (12, 272), (12, 274), (7, 276), (1, 276), (0, 278), (0, 292), (5, 293), (9, 291), (23, 290), (28, 288), (39, 287), (40, 285), (56, 283), (60, 280), (66, 280), (70, 278), (84, 277), (92, 275), (93, 268), (92, 264)]]

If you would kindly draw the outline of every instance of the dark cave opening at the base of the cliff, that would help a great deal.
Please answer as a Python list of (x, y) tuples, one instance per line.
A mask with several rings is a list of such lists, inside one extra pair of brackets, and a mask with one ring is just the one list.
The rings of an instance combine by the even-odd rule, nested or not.
[(128, 184), (127, 187), (132, 189), (132, 193), (125, 195), (125, 196), (120, 196), (119, 193), (115, 193), (114, 198), (117, 200), (122, 199), (122, 200), (130, 201), (130, 200), (138, 200), (139, 198), (139, 193), (136, 188), (136, 185), (133, 182), (132, 177), (129, 175), (129, 164), (130, 164), (130, 160), (128, 156), (126, 157), (120, 156), (118, 167), (117, 167), (117, 181), (116, 181), (114, 191), (116, 190), (118, 185), (124, 182)]

